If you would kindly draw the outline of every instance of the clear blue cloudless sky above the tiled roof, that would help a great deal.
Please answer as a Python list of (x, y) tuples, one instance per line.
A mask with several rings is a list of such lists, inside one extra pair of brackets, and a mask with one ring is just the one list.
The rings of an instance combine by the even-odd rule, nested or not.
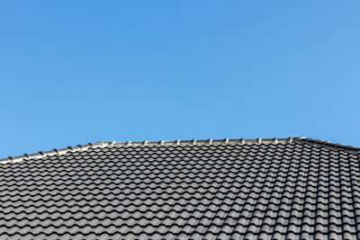
[(0, 158), (96, 141), (360, 147), (359, 1), (2, 1)]

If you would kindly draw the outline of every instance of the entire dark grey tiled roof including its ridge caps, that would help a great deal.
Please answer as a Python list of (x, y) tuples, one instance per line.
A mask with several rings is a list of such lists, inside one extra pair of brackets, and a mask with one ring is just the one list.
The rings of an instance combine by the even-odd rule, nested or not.
[(356, 147), (98, 142), (0, 163), (0, 238), (360, 237)]

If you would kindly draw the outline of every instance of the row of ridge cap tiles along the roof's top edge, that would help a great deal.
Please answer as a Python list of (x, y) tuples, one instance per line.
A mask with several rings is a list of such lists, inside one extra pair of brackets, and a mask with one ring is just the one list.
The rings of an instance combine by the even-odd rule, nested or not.
[(115, 142), (115, 141), (98, 141), (96, 143), (88, 143), (85, 145), (77, 145), (76, 147), (66, 147), (66, 148), (54, 148), (53, 150), (49, 150), (46, 152), (38, 152), (35, 154), (24, 154), (22, 156), (8, 156), (5, 158), (0, 159), (0, 164), (6, 163), (17, 163), (23, 160), (30, 160), (30, 159), (39, 159), (41, 157), (46, 156), (61, 156), (67, 154), (68, 152), (78, 152), (78, 151), (85, 151), (89, 148), (98, 148), (98, 147), (138, 147), (138, 146), (186, 146), (186, 145), (221, 145), (221, 144), (278, 144), (278, 143), (293, 143), (293, 142), (302, 142), (308, 144), (314, 144), (318, 146), (325, 146), (331, 147), (334, 149), (343, 149), (343, 150), (350, 150), (360, 152), (360, 148), (353, 147), (353, 146), (344, 146), (341, 144), (333, 144), (329, 141), (322, 141), (320, 139), (313, 139), (313, 138), (224, 138), (224, 139), (193, 139), (193, 140), (173, 140), (173, 141), (126, 141), (126, 142)]

